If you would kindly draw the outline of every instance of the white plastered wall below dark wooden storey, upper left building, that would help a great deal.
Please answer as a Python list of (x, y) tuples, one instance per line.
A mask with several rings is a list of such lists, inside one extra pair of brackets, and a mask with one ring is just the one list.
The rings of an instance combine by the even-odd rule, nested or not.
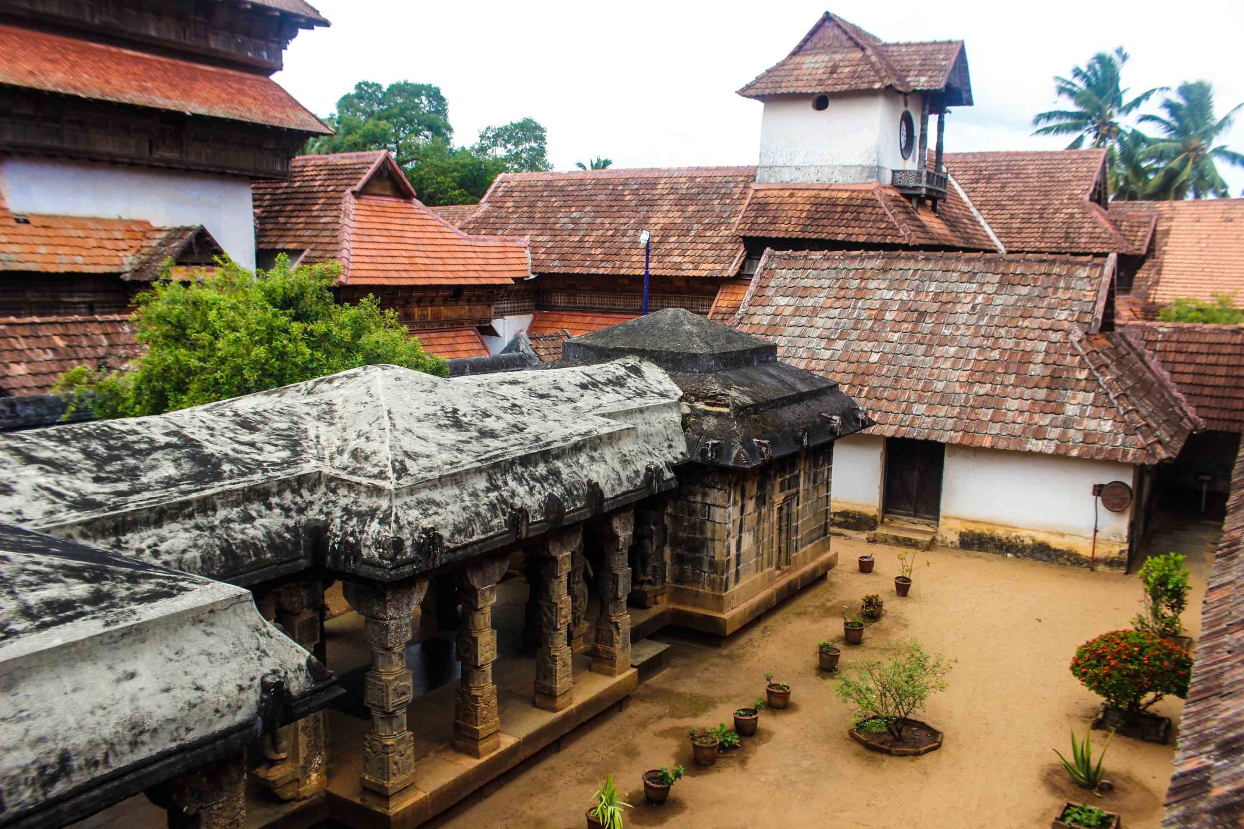
[(235, 262), (255, 267), (250, 180), (239, 175), (0, 158), (0, 196), (14, 213), (144, 219), (163, 227), (203, 225)]

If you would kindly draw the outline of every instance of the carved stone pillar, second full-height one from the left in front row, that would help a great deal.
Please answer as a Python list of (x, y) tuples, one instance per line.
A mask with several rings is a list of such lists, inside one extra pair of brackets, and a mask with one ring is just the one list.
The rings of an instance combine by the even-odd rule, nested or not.
[(493, 603), (496, 602), (496, 584), (509, 563), (508, 554), (499, 556), (458, 573), (463, 614), (458, 660), (463, 675), (454, 700), (454, 748), (471, 757), (485, 757), (501, 747), (501, 717), (493, 685), (493, 661), (496, 659)]

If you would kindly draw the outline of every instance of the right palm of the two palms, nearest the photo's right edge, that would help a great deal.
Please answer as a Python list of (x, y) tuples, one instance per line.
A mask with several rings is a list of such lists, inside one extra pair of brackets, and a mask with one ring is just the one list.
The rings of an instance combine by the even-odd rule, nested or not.
[(1181, 83), (1176, 97), (1162, 102), (1164, 116), (1142, 116), (1141, 123), (1153, 124), (1161, 138), (1144, 150), (1158, 169), (1144, 188), (1151, 199), (1193, 199), (1227, 196), (1227, 183), (1215, 162), (1244, 167), (1244, 154), (1214, 144), (1232, 127), (1238, 104), (1222, 118), (1214, 118), (1214, 91), (1208, 81)]

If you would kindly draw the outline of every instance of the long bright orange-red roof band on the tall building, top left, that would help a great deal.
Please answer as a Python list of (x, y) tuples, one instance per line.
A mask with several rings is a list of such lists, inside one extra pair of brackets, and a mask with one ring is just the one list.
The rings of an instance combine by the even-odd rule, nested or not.
[(16, 26), (0, 26), (0, 85), (310, 134), (332, 132), (262, 75)]

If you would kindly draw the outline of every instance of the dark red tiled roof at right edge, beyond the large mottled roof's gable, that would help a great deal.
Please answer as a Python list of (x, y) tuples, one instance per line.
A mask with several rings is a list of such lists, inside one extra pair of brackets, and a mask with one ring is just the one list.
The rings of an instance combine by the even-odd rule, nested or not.
[(1122, 329), (1157, 355), (1205, 429), (1244, 431), (1244, 326), (1133, 322)]

